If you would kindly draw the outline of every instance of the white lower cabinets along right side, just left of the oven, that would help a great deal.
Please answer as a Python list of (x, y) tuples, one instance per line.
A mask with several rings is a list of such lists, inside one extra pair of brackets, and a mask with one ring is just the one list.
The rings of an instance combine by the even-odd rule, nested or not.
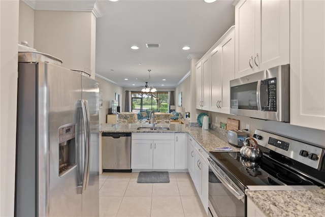
[[(188, 172), (196, 187), (198, 195), (201, 199), (203, 207), (208, 214), (208, 187), (209, 187), (209, 165), (207, 163), (208, 153), (197, 142), (193, 141), (193, 145), (188, 143)], [(192, 139), (193, 140), (193, 139)]]

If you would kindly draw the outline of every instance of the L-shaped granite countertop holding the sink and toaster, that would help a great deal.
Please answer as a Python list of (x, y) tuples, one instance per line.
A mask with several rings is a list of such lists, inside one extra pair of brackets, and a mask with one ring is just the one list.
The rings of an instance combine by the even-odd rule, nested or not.
[[(108, 133), (188, 133), (191, 135), (207, 152), (215, 151), (215, 148), (232, 147), (232, 151), (239, 151), (240, 148), (230, 145), (226, 141), (224, 134), (214, 130), (202, 130), (201, 127), (190, 127), (188, 125), (172, 124), (168, 125), (170, 130), (137, 130), (138, 127), (148, 127), (148, 124), (128, 123), (115, 124), (103, 123), (100, 132)], [(152, 125), (151, 125), (152, 126)], [(158, 126), (159, 127), (159, 126)]]

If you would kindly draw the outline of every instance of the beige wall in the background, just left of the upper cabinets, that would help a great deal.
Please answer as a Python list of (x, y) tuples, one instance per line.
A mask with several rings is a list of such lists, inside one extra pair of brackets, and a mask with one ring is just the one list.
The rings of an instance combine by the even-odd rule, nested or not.
[(185, 112), (190, 111), (191, 102), (192, 102), (190, 75), (175, 88), (176, 107), (178, 106), (178, 96), (180, 92), (182, 92), (182, 107), (183, 107), (182, 115), (185, 118)]

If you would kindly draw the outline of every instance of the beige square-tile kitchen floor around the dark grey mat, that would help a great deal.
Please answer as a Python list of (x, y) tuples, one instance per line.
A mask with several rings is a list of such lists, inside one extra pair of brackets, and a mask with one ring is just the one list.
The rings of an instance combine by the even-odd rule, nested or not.
[(169, 173), (170, 183), (137, 183), (138, 175), (100, 175), (100, 216), (207, 216), (188, 173)]

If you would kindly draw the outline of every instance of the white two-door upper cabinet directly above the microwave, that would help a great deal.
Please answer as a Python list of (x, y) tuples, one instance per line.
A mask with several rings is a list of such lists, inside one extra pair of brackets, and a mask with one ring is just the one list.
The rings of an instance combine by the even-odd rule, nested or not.
[(236, 78), (289, 63), (288, 0), (241, 0), (235, 23)]

